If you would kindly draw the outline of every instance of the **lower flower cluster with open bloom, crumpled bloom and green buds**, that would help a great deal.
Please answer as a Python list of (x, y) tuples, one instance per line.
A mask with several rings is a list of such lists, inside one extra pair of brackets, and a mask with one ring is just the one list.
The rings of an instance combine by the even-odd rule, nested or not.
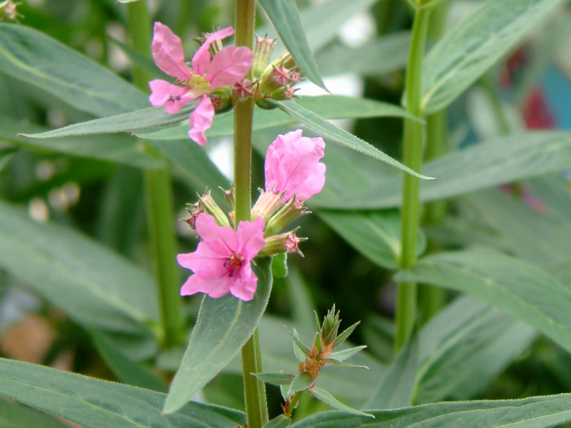
[[(303, 201), (323, 188), (324, 149), (322, 138), (303, 137), (300, 130), (278, 136), (266, 154), (266, 191), (252, 209), (253, 220), (241, 221), (236, 230), (231, 227), (233, 213), (226, 216), (210, 193), (191, 205), (186, 221), (201, 242), (193, 253), (178, 255), (178, 263), (194, 272), (181, 295), (204, 292), (216, 298), (230, 292), (251, 300), (258, 281), (251, 269), (256, 255), (300, 253), (303, 238), (295, 235), (297, 229), (282, 230), (307, 213)], [(232, 192), (226, 196), (232, 209)]]

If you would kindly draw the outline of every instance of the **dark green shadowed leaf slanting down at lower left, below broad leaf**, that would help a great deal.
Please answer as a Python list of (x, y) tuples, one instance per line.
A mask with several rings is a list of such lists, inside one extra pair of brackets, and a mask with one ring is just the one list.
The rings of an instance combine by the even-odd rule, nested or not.
[(89, 333), (99, 355), (119, 381), (153, 391), (167, 392), (166, 383), (150, 369), (124, 355), (105, 335), (96, 330), (90, 330)]

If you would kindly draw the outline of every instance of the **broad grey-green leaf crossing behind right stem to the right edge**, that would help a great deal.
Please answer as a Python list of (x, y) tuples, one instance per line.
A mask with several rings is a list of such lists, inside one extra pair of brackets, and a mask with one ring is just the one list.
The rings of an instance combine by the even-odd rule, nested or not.
[[(438, 200), (522, 178), (564, 170), (571, 164), (571, 133), (538, 131), (493, 138), (427, 163), (423, 173), (438, 177), (420, 183), (420, 200)], [(349, 193), (350, 191), (350, 193)], [(312, 205), (363, 209), (395, 207), (402, 198), (402, 178), (362, 191), (347, 189), (335, 197), (315, 195)]]

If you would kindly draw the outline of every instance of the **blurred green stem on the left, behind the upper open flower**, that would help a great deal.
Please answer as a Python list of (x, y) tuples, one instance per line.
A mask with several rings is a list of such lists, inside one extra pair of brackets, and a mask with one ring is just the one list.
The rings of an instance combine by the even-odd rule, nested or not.
[[(151, 20), (146, 1), (127, 4), (128, 29), (133, 47), (150, 56)], [(133, 68), (133, 80), (142, 91), (148, 91), (148, 76)], [(146, 146), (147, 151), (153, 148)], [(182, 336), (181, 299), (178, 295), (176, 243), (173, 230), (173, 197), (168, 168), (143, 172), (148, 218), (148, 237), (156, 267), (158, 298), (160, 300), (163, 345), (176, 345)]]

